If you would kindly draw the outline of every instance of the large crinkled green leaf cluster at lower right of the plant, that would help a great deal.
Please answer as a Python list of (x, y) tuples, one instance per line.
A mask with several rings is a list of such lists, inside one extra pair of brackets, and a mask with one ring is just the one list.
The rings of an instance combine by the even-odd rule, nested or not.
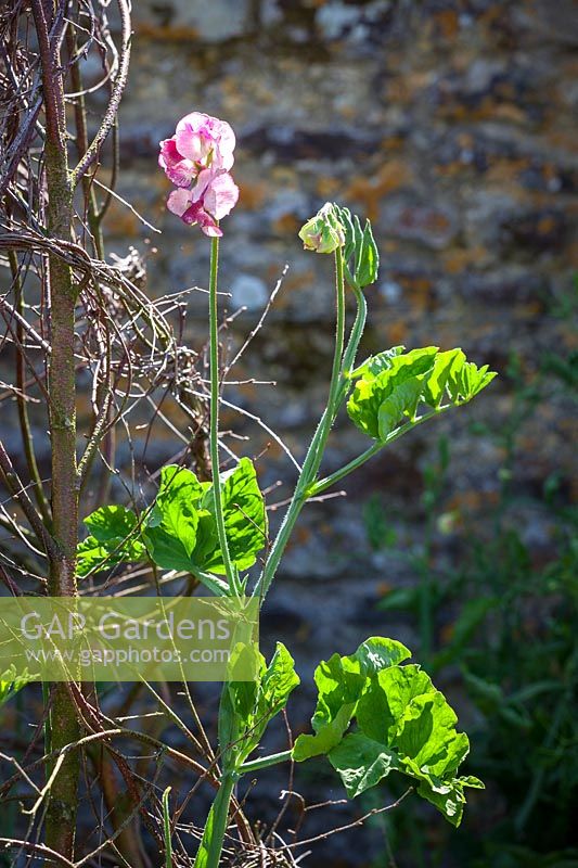
[[(418, 792), (459, 825), (464, 787), (477, 778), (458, 777), (470, 742), (455, 729), (457, 716), (429, 676), (399, 642), (374, 637), (355, 654), (334, 654), (316, 669), (318, 703), (314, 735), (301, 735), (293, 757), (303, 762), (327, 754), (350, 797), (396, 770), (418, 782)], [(357, 731), (348, 731), (357, 724)]]

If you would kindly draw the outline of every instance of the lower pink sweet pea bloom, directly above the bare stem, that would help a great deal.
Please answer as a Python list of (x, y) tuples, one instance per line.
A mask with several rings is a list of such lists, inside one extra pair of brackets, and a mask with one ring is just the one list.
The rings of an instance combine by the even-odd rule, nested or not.
[(167, 207), (189, 226), (198, 224), (206, 235), (220, 237), (217, 225), (234, 208), (239, 188), (228, 173), (215, 175), (205, 169), (190, 190), (178, 188), (170, 193)]

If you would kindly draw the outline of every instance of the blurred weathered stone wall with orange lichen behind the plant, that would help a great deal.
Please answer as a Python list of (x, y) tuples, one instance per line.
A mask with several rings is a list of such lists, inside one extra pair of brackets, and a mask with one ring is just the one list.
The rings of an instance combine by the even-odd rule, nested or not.
[[(475, 797), (461, 837), (410, 810), (410, 855), (403, 821), (384, 820), (367, 839), (356, 833), (367, 852), (330, 840), (312, 864), (384, 865), (387, 837), (400, 847), (400, 866), (434, 864), (432, 853), (444, 865), (528, 866), (535, 856), (540, 866), (578, 865), (556, 861), (576, 857), (567, 854), (578, 797), (568, 758), (578, 680), (578, 7), (133, 5), (119, 192), (163, 234), (116, 203), (110, 250), (124, 255), (132, 244), (146, 255), (153, 293), (206, 285), (208, 243), (165, 212), (168, 187), (156, 168), (158, 141), (196, 110), (229, 120), (237, 136), (241, 199), (223, 224), (221, 253), (230, 310), (246, 308), (230, 327), (233, 341), (253, 328), (288, 263), (237, 371), (277, 387), (244, 386), (232, 398), (303, 454), (325, 396), (333, 277), (330, 257), (304, 253), (297, 231), (326, 200), (370, 217), (381, 247), (364, 354), (395, 344), (462, 346), (500, 373), (473, 406), (374, 459), (347, 484), (347, 498), (309, 509), (265, 620), (306, 678), (321, 656), (351, 651), (372, 633), (407, 641), (439, 672), (473, 728), (472, 770), (486, 776), (487, 794)], [(191, 296), (198, 345), (205, 306), (205, 295)], [(247, 430), (232, 413), (227, 424)], [(268, 438), (251, 433), (246, 448), (256, 455)], [(162, 434), (158, 427), (147, 445), (151, 467), (174, 450)], [(342, 420), (327, 470), (364, 446)], [(292, 480), (274, 446), (259, 467), (264, 485)], [(270, 499), (287, 493), (284, 485)], [(517, 695), (548, 681), (551, 692)], [(309, 712), (305, 690), (296, 729)], [(339, 794), (323, 774), (304, 787)], [(267, 814), (274, 782), (258, 797)], [(544, 830), (549, 809), (556, 820)]]

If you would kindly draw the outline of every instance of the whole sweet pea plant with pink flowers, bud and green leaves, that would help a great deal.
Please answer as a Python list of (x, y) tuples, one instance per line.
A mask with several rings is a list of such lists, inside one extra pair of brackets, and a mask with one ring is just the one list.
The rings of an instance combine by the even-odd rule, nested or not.
[[(370, 221), (346, 207), (325, 204), (300, 230), (307, 250), (333, 255), (335, 263), (335, 347), (325, 409), (300, 467), (293, 497), (260, 571), (251, 571), (268, 538), (265, 498), (253, 462), (241, 458), (220, 472), (218, 257), (220, 220), (234, 207), (239, 190), (231, 177), (235, 137), (223, 120), (193, 112), (160, 143), (159, 166), (175, 186), (167, 207), (210, 238), (209, 362), (211, 478), (201, 481), (184, 467), (163, 469), (158, 494), (140, 515), (121, 506), (103, 507), (85, 519), (90, 534), (78, 548), (78, 574), (120, 562), (145, 562), (165, 571), (185, 571), (210, 593), (258, 597), (267, 593), (301, 510), (394, 441), (452, 408), (470, 401), (496, 375), (468, 361), (459, 349), (436, 346), (385, 349), (358, 359), (367, 317), (364, 291), (377, 279), (378, 254)], [(346, 293), (357, 312), (346, 322)], [(345, 409), (368, 437), (368, 448), (341, 469), (323, 475), (323, 455), (337, 414)], [(245, 775), (275, 764), (326, 756), (350, 799), (389, 774), (409, 779), (416, 793), (454, 826), (462, 819), (464, 791), (481, 782), (460, 775), (468, 739), (444, 694), (395, 639), (372, 637), (351, 654), (333, 654), (316, 669), (317, 706), (311, 732), (291, 750), (255, 757), (269, 722), (299, 685), (294, 661), (278, 643), (267, 662), (255, 656), (254, 681), (231, 678), (222, 689), (218, 716), (219, 787), (206, 820), (195, 868), (217, 868), (235, 784)], [(168, 795), (164, 800), (168, 810)], [(166, 822), (170, 865), (170, 822)]]

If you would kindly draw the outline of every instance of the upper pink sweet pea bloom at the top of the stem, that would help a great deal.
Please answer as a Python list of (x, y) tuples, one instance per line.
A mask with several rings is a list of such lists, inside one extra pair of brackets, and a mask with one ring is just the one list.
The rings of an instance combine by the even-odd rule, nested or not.
[(189, 187), (203, 169), (228, 171), (233, 163), (235, 135), (226, 120), (192, 112), (160, 142), (158, 165), (177, 187)]

